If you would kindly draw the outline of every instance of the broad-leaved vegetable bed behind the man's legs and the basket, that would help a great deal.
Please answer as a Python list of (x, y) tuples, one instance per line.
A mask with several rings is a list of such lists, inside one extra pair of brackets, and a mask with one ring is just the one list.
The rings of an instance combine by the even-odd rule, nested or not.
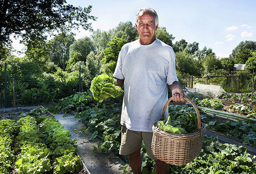
[[(94, 147), (94, 152), (102, 151), (108, 153), (113, 151), (118, 153), (120, 146), (120, 115), (121, 115), (122, 98), (106, 99), (102, 103), (95, 102), (90, 92), (76, 93), (65, 99), (61, 99), (58, 109), (68, 112), (74, 110), (74, 115), (80, 121), (88, 125), (87, 130), (78, 130), (86, 132), (91, 130), (93, 133), (91, 139), (99, 137), (102, 142)], [(169, 112), (174, 107), (169, 107)], [(178, 112), (188, 112), (193, 108), (178, 109)], [(174, 110), (173, 110), (174, 111)], [(176, 111), (177, 112), (177, 111)], [(190, 111), (189, 111), (190, 112)], [(207, 114), (208, 116), (208, 114)], [(202, 119), (207, 120), (207, 116), (202, 115)], [(205, 117), (205, 118), (204, 118)], [(211, 117), (209, 117), (211, 119)], [(208, 118), (208, 119), (209, 119)], [(154, 161), (145, 153), (145, 147), (141, 149), (143, 158), (143, 174), (152, 174), (155, 172)], [(171, 165), (172, 174), (254, 174), (256, 163), (253, 162), (255, 157), (247, 153), (243, 146), (222, 144), (213, 140), (212, 137), (205, 137), (201, 154), (195, 160), (187, 165)], [(129, 173), (129, 165), (123, 167), (124, 173)]]

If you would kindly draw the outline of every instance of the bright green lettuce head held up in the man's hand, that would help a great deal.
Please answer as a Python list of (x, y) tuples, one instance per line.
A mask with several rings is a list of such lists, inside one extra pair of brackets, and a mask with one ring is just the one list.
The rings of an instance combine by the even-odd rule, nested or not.
[(107, 97), (116, 98), (123, 93), (122, 88), (116, 86), (116, 81), (105, 74), (93, 78), (90, 91), (93, 93), (93, 98), (98, 102), (103, 102)]

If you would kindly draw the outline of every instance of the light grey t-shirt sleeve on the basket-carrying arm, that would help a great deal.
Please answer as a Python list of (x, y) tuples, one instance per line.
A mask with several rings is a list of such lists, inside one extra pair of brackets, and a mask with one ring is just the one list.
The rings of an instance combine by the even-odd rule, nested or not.
[(173, 82), (178, 81), (176, 68), (175, 68), (175, 54), (173, 49), (170, 50), (170, 62), (167, 73), (167, 84), (171, 85)]

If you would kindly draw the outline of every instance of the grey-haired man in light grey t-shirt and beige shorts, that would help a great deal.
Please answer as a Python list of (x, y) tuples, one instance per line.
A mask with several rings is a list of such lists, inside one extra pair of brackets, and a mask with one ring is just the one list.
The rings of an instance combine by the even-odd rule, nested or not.
[(169, 165), (152, 154), (151, 140), (152, 125), (160, 119), (168, 99), (168, 87), (174, 102), (184, 102), (175, 70), (175, 54), (171, 46), (155, 38), (158, 16), (154, 9), (139, 9), (135, 26), (140, 38), (122, 47), (113, 74), (116, 85), (124, 85), (119, 154), (128, 154), (133, 173), (140, 174), (143, 141), (148, 156), (156, 162), (157, 174), (168, 174)]

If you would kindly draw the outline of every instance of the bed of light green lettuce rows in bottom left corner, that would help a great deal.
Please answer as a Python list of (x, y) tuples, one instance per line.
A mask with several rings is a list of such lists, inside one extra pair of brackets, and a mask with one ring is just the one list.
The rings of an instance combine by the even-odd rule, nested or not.
[(0, 110), (0, 173), (88, 174), (76, 139), (43, 107), (31, 109)]

